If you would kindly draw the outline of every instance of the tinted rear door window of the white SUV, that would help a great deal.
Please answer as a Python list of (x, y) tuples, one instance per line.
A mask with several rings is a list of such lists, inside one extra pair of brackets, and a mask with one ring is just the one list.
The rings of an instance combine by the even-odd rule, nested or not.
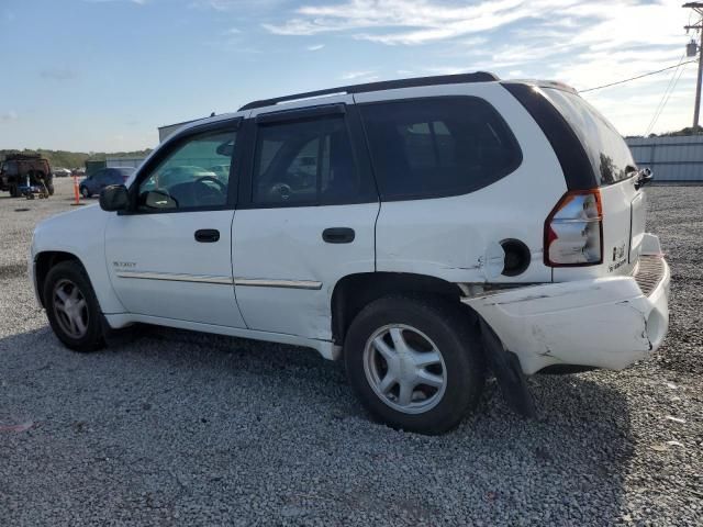
[(255, 205), (354, 202), (365, 190), (344, 115), (260, 123), (256, 135)]

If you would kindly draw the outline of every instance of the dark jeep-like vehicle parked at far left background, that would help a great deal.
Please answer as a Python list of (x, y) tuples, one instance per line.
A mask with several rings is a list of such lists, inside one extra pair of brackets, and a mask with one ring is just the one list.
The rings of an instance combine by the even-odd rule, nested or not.
[(9, 191), (12, 198), (37, 192), (53, 195), (54, 176), (48, 160), (38, 154), (5, 156), (0, 165), (0, 190)]

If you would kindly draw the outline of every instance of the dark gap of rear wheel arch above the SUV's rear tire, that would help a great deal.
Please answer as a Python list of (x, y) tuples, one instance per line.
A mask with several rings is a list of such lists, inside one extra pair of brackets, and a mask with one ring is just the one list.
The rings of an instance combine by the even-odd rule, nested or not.
[(458, 284), (427, 274), (410, 272), (361, 272), (341, 278), (332, 292), (332, 338), (343, 345), (354, 317), (370, 302), (389, 294), (425, 294), (456, 302), (457, 307), (472, 313), (459, 302)]

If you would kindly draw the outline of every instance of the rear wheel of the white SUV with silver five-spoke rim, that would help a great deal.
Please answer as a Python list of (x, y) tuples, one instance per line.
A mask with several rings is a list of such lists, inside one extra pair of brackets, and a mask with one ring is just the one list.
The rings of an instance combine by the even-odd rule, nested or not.
[(394, 428), (442, 434), (478, 404), (480, 336), (469, 316), (444, 300), (379, 299), (356, 316), (344, 347), (361, 404)]

